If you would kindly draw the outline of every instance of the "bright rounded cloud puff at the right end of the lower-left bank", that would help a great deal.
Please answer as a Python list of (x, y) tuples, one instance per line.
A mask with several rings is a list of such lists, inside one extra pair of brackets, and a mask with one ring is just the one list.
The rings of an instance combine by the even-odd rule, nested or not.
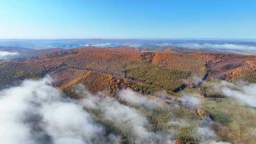
[(66, 144), (73, 140), (83, 144), (83, 139), (90, 141), (90, 138), (103, 131), (101, 126), (94, 123), (89, 113), (74, 103), (47, 104), (40, 112), (43, 114), (46, 132), (54, 138), (55, 144), (63, 144), (64, 140)]

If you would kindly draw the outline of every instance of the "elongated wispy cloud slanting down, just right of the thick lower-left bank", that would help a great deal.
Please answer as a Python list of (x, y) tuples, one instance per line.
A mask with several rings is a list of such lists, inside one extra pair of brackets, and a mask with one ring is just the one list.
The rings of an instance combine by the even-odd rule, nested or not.
[(135, 108), (123, 105), (112, 98), (101, 99), (99, 96), (91, 96), (90, 94), (83, 99), (83, 105), (85, 108), (101, 111), (100, 117), (102, 119), (116, 123), (123, 130), (128, 129), (134, 139), (142, 140), (152, 137), (146, 129), (149, 122)]

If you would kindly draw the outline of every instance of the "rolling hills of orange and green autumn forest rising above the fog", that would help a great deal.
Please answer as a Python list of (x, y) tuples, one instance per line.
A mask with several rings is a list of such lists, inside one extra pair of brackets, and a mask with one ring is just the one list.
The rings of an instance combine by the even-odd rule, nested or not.
[[(23, 60), (0, 63), (0, 89), (19, 85), (23, 80), (50, 75), (54, 79), (51, 85), (69, 98), (82, 99), (88, 104), (101, 99), (95, 103), (99, 108), (86, 105), (84, 109), (109, 133), (120, 135), (122, 144), (143, 143), (134, 140), (135, 135), (130, 131), (130, 126), (107, 120), (103, 115), (106, 110), (104, 106), (112, 106), (105, 101), (109, 98), (112, 99), (110, 104), (118, 103), (120, 107), (132, 108), (146, 117), (150, 123), (147, 127), (150, 133), (172, 134), (176, 144), (198, 144), (204, 141), (206, 135), (202, 135), (199, 130), (213, 131), (219, 134), (217, 139), (234, 142), (235, 139), (230, 139), (232, 136), (223, 134), (234, 125), (225, 125), (227, 120), (223, 120), (224, 116), (216, 114), (217, 110), (219, 114), (223, 113), (222, 107), (213, 110), (209, 108), (211, 104), (186, 103), (184, 99), (187, 96), (183, 92), (196, 91), (201, 101), (223, 101), (225, 105), (229, 100), (222, 96), (223, 93), (215, 91), (212, 85), (209, 86), (210, 83), (218, 85), (220, 80), (250, 83), (255, 82), (256, 78), (256, 57), (253, 55), (146, 52), (133, 47), (81, 47), (33, 52), (34, 55), (27, 55)], [(142, 100), (143, 105), (131, 102), (131, 99), (122, 97), (123, 90), (136, 92), (138, 101), (145, 98), (147, 102), (144, 103), (145, 99)], [(89, 99), (88, 95), (95, 99)], [(191, 93), (188, 95), (193, 98)], [(146, 106), (149, 103), (157, 106)], [(226, 129), (219, 129), (224, 125)], [(238, 135), (233, 129), (232, 134)], [(216, 139), (216, 135), (210, 135), (207, 139), (213, 137)], [(244, 141), (244, 138), (236, 141)], [(157, 143), (161, 142), (157, 139)]]

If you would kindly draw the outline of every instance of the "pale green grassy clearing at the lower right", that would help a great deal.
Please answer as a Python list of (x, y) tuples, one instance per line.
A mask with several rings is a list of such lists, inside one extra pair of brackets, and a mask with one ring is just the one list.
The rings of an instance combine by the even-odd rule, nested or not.
[(204, 98), (198, 89), (186, 88), (179, 94), (193, 93), (219, 124), (217, 135), (232, 144), (255, 144), (256, 109), (231, 98)]

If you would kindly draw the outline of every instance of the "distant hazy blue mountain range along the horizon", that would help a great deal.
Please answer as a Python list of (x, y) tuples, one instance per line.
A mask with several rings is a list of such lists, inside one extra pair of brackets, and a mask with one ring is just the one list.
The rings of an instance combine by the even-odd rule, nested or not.
[(234, 53), (256, 54), (256, 40), (235, 39), (0, 39), (0, 46), (24, 47), (31, 49), (76, 47), (183, 47)]

